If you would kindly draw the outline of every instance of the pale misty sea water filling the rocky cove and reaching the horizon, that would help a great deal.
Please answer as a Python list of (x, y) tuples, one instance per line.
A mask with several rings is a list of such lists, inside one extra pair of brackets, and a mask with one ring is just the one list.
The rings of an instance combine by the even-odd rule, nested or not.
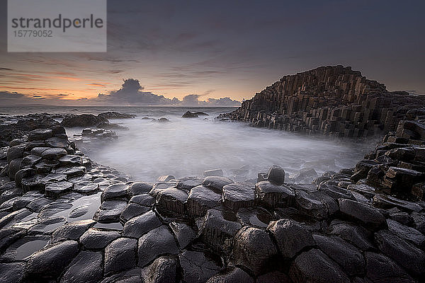
[[(314, 168), (320, 175), (355, 166), (376, 144), (376, 139), (329, 139), (215, 119), (220, 113), (235, 109), (38, 105), (0, 107), (0, 115), (97, 115), (107, 111), (135, 114), (134, 119), (110, 120), (128, 129), (115, 129), (118, 139), (84, 146), (84, 153), (96, 163), (128, 173), (133, 180), (147, 182), (154, 182), (161, 175), (202, 176), (204, 171), (217, 168), (235, 180), (254, 179), (275, 164), (289, 175), (302, 168)], [(181, 117), (186, 111), (205, 112), (208, 116)], [(169, 122), (158, 122), (160, 117)], [(82, 128), (68, 128), (67, 134), (72, 137), (81, 131)]]

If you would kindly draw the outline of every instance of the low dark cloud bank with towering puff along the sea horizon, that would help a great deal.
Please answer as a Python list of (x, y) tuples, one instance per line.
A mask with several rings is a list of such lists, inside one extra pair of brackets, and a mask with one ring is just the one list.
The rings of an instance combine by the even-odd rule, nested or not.
[(164, 105), (164, 106), (239, 106), (240, 102), (231, 98), (207, 98), (208, 91), (203, 95), (189, 94), (182, 100), (166, 98), (150, 91), (144, 91), (137, 79), (125, 79), (117, 91), (99, 93), (96, 98), (67, 99), (67, 94), (58, 93), (56, 96), (26, 95), (23, 93), (0, 91), (0, 100), (4, 105), (52, 104), (52, 105)]

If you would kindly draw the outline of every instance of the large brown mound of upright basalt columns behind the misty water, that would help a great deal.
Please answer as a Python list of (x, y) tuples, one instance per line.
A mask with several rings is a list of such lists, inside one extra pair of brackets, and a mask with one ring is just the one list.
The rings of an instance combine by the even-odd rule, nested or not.
[[(368, 137), (395, 130), (425, 98), (388, 92), (351, 67), (319, 67), (284, 76), (222, 118), (332, 137)], [(403, 108), (404, 107), (404, 108)]]

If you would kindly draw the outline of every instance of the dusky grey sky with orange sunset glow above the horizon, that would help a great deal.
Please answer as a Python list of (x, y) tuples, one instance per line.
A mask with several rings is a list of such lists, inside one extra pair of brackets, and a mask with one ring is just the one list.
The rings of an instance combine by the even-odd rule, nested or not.
[(3, 105), (237, 105), (336, 64), (425, 93), (425, 1), (108, 0), (108, 51), (93, 53), (8, 53), (6, 3)]

